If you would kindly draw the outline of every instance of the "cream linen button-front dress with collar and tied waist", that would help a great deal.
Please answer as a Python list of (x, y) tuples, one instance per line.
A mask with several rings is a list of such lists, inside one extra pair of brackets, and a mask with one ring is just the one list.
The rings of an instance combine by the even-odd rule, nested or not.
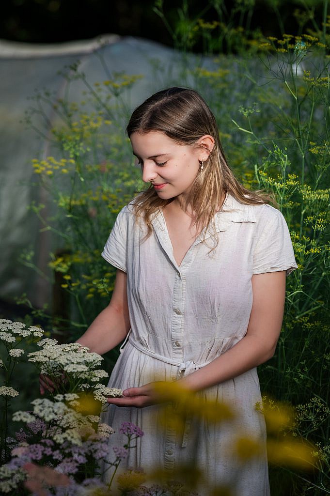
[[(215, 250), (209, 253), (214, 232), (207, 233), (208, 246), (201, 242), (201, 233), (178, 266), (161, 212), (154, 215), (153, 234), (144, 242), (146, 229), (135, 223), (132, 203), (119, 213), (102, 256), (127, 273), (131, 331), (109, 387), (175, 380), (210, 363), (246, 334), (252, 275), (289, 274), (297, 267), (285, 219), (270, 205), (243, 205), (227, 194), (214, 221), (219, 240)], [(229, 455), (236, 435), (248, 433), (265, 442), (264, 418), (255, 408), (261, 401), (257, 369), (198, 394), (229, 403), (238, 414), (236, 421), (191, 419), (184, 434), (172, 428), (164, 433), (156, 422), (158, 406), (111, 405), (102, 417), (116, 431), (109, 440), (109, 459), (115, 458), (112, 447), (126, 441), (119, 433), (121, 423), (132, 422), (144, 436), (121, 466), (147, 472), (192, 463), (210, 487), (227, 484), (239, 496), (269, 495), (265, 450), (261, 458), (241, 465)], [(207, 495), (206, 486), (199, 493)]]

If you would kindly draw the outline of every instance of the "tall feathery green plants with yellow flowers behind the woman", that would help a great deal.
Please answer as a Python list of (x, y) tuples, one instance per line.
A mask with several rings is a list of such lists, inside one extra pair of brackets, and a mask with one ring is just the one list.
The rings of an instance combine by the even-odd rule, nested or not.
[[(316, 443), (323, 457), (312, 476), (272, 470), (274, 496), (330, 492), (330, 22), (324, 3), (321, 27), (312, 22), (313, 28), (303, 32), (314, 8), (305, 2), (305, 13), (296, 12), (301, 32), (283, 32), (280, 38), (249, 30), (253, 1), (235, 3), (242, 12), (239, 25), (234, 17), (229, 22), (221, 1), (212, 2), (218, 12), (212, 23), (201, 15), (190, 19), (184, 2), (174, 28), (162, 1), (155, 4), (183, 52), (178, 78), (167, 74), (166, 85), (187, 84), (201, 92), (215, 113), (232, 168), (246, 186), (275, 195), (291, 232), (298, 269), (287, 279), (277, 351), (260, 368), (260, 379), (263, 391), (296, 407), (293, 433)], [(279, 2), (269, 4), (278, 12)], [(216, 53), (216, 58), (187, 55), (198, 36), (204, 53)], [(240, 57), (221, 55), (224, 44)], [(152, 63), (155, 80), (162, 81), (159, 64)], [(115, 271), (100, 252), (119, 210), (142, 186), (123, 133), (132, 110), (129, 91), (138, 76), (110, 74), (106, 66), (105, 72), (106, 80), (92, 86), (79, 65), (72, 65), (63, 73), (65, 98), (37, 94), (27, 115), (52, 147), (53, 156), (34, 159), (33, 167), (53, 206), (31, 208), (43, 229), (54, 235), (57, 248), (49, 267), (69, 310), (68, 318), (57, 316), (55, 326), (52, 317), (53, 328), (66, 329), (69, 340), (109, 302)], [(76, 80), (85, 91), (79, 103), (72, 103), (69, 88)], [(47, 121), (49, 107), (56, 113), (55, 123)], [(26, 252), (22, 262), (32, 266), (33, 254)], [(111, 355), (112, 362), (115, 357)]]

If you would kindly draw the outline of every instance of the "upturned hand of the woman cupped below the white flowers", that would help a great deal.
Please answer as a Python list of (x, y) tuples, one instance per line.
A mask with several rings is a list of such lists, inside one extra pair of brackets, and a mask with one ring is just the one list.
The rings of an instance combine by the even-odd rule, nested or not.
[(156, 391), (157, 382), (149, 382), (141, 387), (130, 387), (123, 391), (122, 398), (108, 398), (108, 403), (116, 406), (133, 408), (144, 408), (146, 406), (162, 403), (162, 399)]

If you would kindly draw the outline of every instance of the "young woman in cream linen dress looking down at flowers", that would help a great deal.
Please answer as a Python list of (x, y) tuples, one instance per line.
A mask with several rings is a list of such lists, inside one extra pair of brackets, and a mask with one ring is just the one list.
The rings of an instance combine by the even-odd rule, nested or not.
[[(109, 381), (124, 389), (103, 418), (117, 431), (111, 445), (121, 444), (120, 424), (129, 421), (144, 436), (127, 467), (194, 461), (209, 487), (266, 496), (265, 454), (238, 466), (229, 449), (239, 433), (264, 442), (256, 367), (274, 353), (285, 275), (296, 267), (287, 225), (265, 195), (235, 179), (197, 92), (159, 91), (135, 109), (127, 131), (149, 186), (117, 217), (102, 253), (118, 269), (113, 296), (78, 340), (103, 354), (129, 334)], [(190, 419), (182, 434), (164, 434), (153, 380), (227, 402), (236, 421)]]

